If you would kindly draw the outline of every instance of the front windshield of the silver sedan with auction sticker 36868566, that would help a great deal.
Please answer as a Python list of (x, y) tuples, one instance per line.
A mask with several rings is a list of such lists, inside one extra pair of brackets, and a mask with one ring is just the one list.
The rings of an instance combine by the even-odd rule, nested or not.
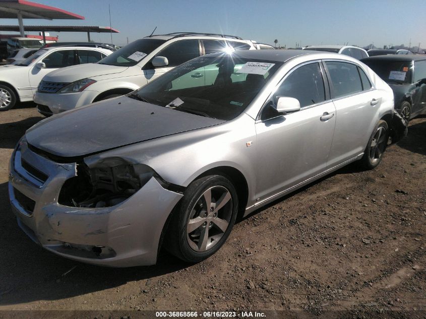
[(201, 116), (230, 120), (242, 113), (282, 62), (202, 56), (184, 63), (130, 97)]

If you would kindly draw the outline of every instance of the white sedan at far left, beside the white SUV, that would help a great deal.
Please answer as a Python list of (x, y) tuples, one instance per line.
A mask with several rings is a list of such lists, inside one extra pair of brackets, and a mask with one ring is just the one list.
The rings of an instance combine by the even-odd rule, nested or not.
[(0, 67), (0, 111), (13, 108), (18, 101), (32, 101), (41, 79), (59, 68), (94, 63), (113, 51), (92, 47), (47, 47), (17, 65)]

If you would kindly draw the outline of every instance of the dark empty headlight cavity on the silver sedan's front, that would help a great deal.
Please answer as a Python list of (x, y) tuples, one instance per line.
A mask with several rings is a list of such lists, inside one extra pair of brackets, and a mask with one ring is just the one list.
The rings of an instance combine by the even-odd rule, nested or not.
[(58, 203), (87, 208), (114, 206), (135, 194), (155, 175), (149, 166), (122, 158), (104, 159), (93, 168), (80, 163), (77, 176), (68, 179), (60, 190)]

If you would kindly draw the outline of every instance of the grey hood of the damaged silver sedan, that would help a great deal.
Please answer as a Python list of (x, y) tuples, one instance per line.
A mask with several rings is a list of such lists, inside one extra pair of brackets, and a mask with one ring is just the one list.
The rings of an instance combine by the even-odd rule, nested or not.
[(121, 96), (46, 118), (25, 137), (44, 152), (78, 157), (222, 122)]

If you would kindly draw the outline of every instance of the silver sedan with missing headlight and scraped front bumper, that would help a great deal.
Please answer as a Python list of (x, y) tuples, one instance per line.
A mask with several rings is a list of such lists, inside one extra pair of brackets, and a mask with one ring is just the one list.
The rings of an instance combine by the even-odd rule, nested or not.
[(393, 114), (389, 86), (346, 55), (200, 56), (34, 125), (12, 155), (10, 201), (21, 228), (63, 257), (153, 265), (163, 247), (199, 262), (239, 213), (351, 162), (376, 167)]

